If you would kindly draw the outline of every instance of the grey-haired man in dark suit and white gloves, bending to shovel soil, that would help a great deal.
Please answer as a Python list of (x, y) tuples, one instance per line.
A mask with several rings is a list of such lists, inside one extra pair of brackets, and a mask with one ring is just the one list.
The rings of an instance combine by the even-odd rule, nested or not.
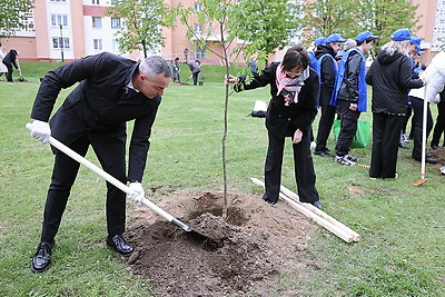
[[(111, 53), (89, 56), (49, 71), (41, 81), (32, 108), (31, 136), (48, 142), (52, 136), (81, 156), (93, 148), (103, 170), (122, 182), (129, 181), (135, 195), (144, 198), (142, 175), (149, 149), (151, 126), (171, 71), (161, 57), (140, 63)], [(49, 121), (61, 89), (79, 82)], [(126, 175), (126, 122), (135, 120)], [(49, 121), (49, 123), (48, 123)], [(79, 164), (53, 148), (56, 156), (51, 185), (43, 214), (40, 244), (31, 270), (44, 271), (75, 182)], [(134, 251), (122, 237), (126, 194), (107, 182), (107, 245), (123, 256)]]

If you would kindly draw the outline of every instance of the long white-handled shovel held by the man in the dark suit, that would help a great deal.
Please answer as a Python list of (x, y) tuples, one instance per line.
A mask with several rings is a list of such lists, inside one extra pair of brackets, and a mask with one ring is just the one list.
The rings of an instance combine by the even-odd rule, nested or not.
[[(32, 123), (27, 123), (26, 127), (29, 130), (31, 130)], [(85, 167), (87, 167), (88, 169), (90, 169), (91, 171), (93, 171), (95, 174), (97, 174), (98, 176), (100, 176), (101, 178), (103, 178), (105, 180), (107, 180), (108, 182), (110, 182), (111, 185), (117, 187), (118, 189), (122, 190), (123, 192), (130, 194), (130, 195), (135, 192), (132, 189), (130, 189), (130, 187), (128, 187), (120, 180), (116, 179), (111, 175), (107, 174), (106, 171), (103, 171), (102, 169), (100, 169), (99, 167), (97, 167), (96, 165), (93, 165), (92, 162), (90, 162), (89, 160), (87, 160), (86, 158), (83, 158), (82, 156), (80, 156), (79, 154), (77, 154), (76, 151), (70, 149), (69, 147), (67, 147), (59, 140), (57, 140), (56, 138), (50, 137), (49, 142), (51, 143), (51, 146), (53, 146), (55, 148), (65, 152), (68, 157), (71, 157), (79, 164), (83, 165)], [(168, 214), (167, 211), (165, 211), (164, 209), (161, 209), (160, 207), (158, 207), (150, 200), (142, 198), (141, 202), (145, 206), (149, 207), (151, 210), (154, 210), (156, 214), (158, 214), (159, 216), (161, 216), (162, 218), (168, 220), (169, 222), (171, 222), (171, 224), (178, 226), (179, 228), (181, 228), (182, 230), (185, 230), (187, 232), (187, 235), (191, 236), (192, 238), (195, 238), (199, 241), (202, 241), (204, 245), (209, 246), (210, 248), (215, 248), (218, 246), (218, 244), (214, 239), (191, 229), (188, 225), (186, 225), (185, 222), (175, 218), (174, 216), (171, 216), (170, 214)]]

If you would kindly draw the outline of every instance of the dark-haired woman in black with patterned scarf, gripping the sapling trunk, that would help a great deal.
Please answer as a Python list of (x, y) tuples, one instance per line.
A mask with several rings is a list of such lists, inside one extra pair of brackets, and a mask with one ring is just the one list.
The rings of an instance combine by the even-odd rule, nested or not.
[(266, 115), (269, 146), (263, 199), (270, 205), (278, 201), (285, 138), (290, 137), (299, 199), (322, 208), (310, 155), (310, 126), (317, 115), (319, 81), (317, 72), (309, 67), (306, 50), (301, 46), (289, 48), (281, 62), (270, 63), (249, 83), (245, 77), (234, 76), (226, 77), (226, 83), (236, 83), (235, 91), (270, 86), (271, 100)]

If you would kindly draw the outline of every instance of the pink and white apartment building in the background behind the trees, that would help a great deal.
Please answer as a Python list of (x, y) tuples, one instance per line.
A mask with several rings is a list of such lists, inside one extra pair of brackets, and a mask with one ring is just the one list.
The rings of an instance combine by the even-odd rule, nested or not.
[[(17, 49), (22, 60), (72, 61), (81, 57), (102, 51), (126, 56), (131, 59), (144, 58), (139, 51), (119, 52), (116, 33), (121, 20), (107, 16), (107, 7), (113, 0), (36, 0), (34, 9), (28, 19), (29, 30), (18, 31), (14, 37), (2, 39), (7, 49)], [(185, 7), (199, 9), (195, 0), (165, 0), (168, 4), (181, 2)], [(412, 0), (419, 4), (422, 29), (416, 34), (424, 39), (423, 46), (428, 49), (423, 57), (425, 61), (441, 50), (445, 38), (445, 0)], [(195, 24), (199, 33), (201, 28)], [(196, 40), (186, 38), (186, 27), (178, 23), (175, 29), (164, 28), (165, 46), (158, 52), (166, 59), (179, 57), (198, 58), (205, 63), (221, 63), (221, 60), (209, 51), (204, 52)], [(217, 37), (209, 37), (207, 46), (222, 53)], [(234, 44), (233, 47), (235, 47)], [(283, 56), (278, 52), (277, 58)]]

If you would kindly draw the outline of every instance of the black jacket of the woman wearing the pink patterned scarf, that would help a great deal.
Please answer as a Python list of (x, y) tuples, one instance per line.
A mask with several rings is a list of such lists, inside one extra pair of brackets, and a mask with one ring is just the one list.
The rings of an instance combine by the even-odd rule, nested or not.
[[(317, 102), (319, 97), (318, 75), (310, 69), (309, 77), (304, 81), (305, 86), (298, 95), (298, 102), (285, 106), (285, 98), (278, 95), (276, 83), (276, 70), (278, 62), (270, 63), (261, 75), (255, 76), (250, 83), (246, 85), (245, 78), (240, 77), (239, 85), (235, 86), (236, 91), (251, 90), (270, 85), (270, 102), (266, 115), (267, 129), (279, 137), (290, 136), (288, 132), (289, 125), (293, 129), (300, 129), (303, 132), (308, 131), (317, 115)], [(240, 86), (243, 85), (243, 87)], [(293, 132), (295, 132), (295, 130)], [(286, 135), (287, 132), (287, 135)]]

